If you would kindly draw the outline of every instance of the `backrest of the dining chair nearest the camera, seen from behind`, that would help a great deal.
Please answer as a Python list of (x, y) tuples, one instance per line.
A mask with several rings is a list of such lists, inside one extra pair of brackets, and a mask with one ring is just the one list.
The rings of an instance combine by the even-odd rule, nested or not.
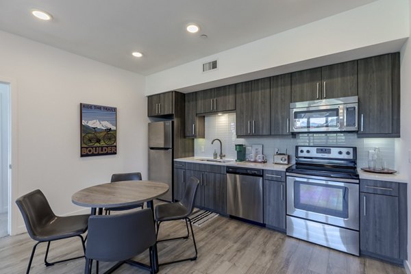
[(151, 209), (88, 219), (86, 257), (103, 262), (133, 258), (155, 243)]

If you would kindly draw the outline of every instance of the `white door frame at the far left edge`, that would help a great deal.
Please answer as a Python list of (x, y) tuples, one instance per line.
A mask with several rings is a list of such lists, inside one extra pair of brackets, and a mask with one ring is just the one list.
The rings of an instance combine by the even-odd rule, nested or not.
[(16, 79), (0, 75), (0, 82), (9, 85), (9, 141), (8, 150), (8, 232), (9, 235), (18, 234), (18, 208), (14, 201), (18, 195), (18, 112), (17, 112), (17, 82)]

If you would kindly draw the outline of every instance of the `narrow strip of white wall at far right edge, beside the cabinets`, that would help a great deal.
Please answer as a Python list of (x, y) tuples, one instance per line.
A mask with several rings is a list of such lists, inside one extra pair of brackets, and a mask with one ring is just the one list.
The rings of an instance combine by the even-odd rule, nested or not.
[[(407, 11), (411, 30), (411, 4), (408, 3)], [(410, 33), (411, 34), (411, 33)], [(401, 49), (401, 140), (399, 145), (399, 158), (401, 166), (399, 169), (408, 175), (408, 182), (411, 182), (411, 163), (408, 153), (411, 153), (411, 41), (408, 39), (406, 45)], [(408, 260), (406, 270), (411, 274), (411, 184), (408, 185)]]

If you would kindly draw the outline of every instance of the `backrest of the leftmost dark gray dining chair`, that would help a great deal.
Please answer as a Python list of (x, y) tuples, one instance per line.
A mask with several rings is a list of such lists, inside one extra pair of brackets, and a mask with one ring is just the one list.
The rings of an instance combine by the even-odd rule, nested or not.
[(23, 215), (29, 236), (39, 240), (42, 229), (56, 217), (45, 195), (40, 190), (34, 190), (16, 199), (16, 204)]

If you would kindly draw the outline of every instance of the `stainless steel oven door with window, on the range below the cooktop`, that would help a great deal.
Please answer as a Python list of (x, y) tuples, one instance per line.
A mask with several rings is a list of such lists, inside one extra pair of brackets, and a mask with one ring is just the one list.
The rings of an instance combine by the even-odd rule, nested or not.
[(359, 229), (359, 185), (354, 179), (287, 176), (287, 214)]

